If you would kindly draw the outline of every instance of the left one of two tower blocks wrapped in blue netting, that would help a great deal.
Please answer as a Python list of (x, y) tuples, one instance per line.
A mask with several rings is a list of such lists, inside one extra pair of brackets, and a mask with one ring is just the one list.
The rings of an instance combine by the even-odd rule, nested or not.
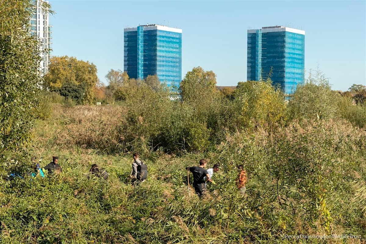
[(182, 30), (162, 25), (124, 29), (124, 71), (130, 78), (157, 75), (168, 87), (182, 80)]

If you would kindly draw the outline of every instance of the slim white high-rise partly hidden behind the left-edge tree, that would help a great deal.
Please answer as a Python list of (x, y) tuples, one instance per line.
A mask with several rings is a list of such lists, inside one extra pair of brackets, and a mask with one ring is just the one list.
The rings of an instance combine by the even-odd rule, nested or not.
[(50, 58), (50, 50), (52, 44), (52, 26), (49, 25), (49, 15), (48, 12), (44, 12), (42, 10), (42, 3), (48, 1), (36, 0), (34, 1), (34, 10), (33, 15), (30, 19), (31, 25), (31, 35), (34, 35), (38, 41), (41, 43), (40, 45), (40, 55), (42, 60), (40, 62), (40, 72), (41, 75), (44, 75), (48, 71), (48, 64)]

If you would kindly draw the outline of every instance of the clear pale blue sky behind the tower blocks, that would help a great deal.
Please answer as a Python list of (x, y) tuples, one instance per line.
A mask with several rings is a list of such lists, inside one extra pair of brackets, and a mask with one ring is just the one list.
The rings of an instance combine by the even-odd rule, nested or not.
[(94, 63), (104, 83), (110, 69), (123, 70), (123, 28), (156, 23), (183, 29), (183, 77), (201, 66), (217, 85), (245, 81), (247, 29), (285, 25), (305, 30), (306, 70), (319, 65), (335, 90), (366, 85), (365, 0), (49, 1), (52, 55)]

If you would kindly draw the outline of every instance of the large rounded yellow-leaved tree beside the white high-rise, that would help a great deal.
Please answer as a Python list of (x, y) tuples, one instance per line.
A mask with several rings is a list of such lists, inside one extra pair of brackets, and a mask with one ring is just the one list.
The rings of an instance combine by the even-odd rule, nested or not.
[(81, 104), (92, 104), (97, 80), (97, 67), (93, 63), (62, 56), (51, 58), (44, 85), (50, 91), (63, 93), (66, 97), (72, 97), (68, 93), (71, 90), (72, 93), (80, 93), (77, 97)]

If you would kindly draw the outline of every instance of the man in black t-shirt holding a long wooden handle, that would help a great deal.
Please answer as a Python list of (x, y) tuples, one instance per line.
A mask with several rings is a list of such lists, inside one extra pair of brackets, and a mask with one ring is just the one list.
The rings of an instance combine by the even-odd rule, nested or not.
[(186, 167), (186, 170), (192, 172), (193, 174), (193, 187), (198, 196), (203, 196), (204, 192), (206, 191), (206, 181), (204, 179), (205, 176), (207, 177), (207, 181), (212, 182), (209, 173), (205, 169), (206, 164), (207, 160), (201, 159), (199, 160), (199, 166)]

